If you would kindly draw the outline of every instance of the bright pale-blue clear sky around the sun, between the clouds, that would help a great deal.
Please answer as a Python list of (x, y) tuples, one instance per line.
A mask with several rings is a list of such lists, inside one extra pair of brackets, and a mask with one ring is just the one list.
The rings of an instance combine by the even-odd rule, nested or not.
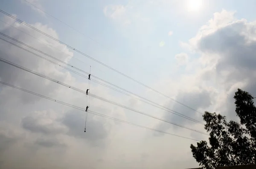
[[(100, 44), (48, 15), (36, 13), (22, 0), (3, 0), (2, 9), (17, 14), (21, 20), (28, 23), (41, 22), (49, 25), (58, 32), (60, 40), (147, 84), (153, 82), (151, 75), (157, 79), (177, 78), (178, 74), (183, 73), (182, 68), (175, 71), (172, 69), (176, 65), (175, 55), (186, 52), (179, 45), (179, 41), (186, 42), (193, 37), (214, 12), (222, 9), (237, 11), (236, 17), (247, 18), (249, 21), (256, 17), (253, 12), (253, 6), (255, 6), (253, 0), (248, 0), (246, 6), (241, 1), (205, 0), (199, 11), (188, 11), (186, 0), (167, 1), (167, 3), (153, 0), (152, 2), (127, 0), (75, 0), (72, 2), (44, 0), (40, 2), (44, 11)], [(128, 8), (126, 11), (127, 17), (133, 17), (133, 12), (136, 12), (149, 21), (144, 25), (140, 22), (140, 18), (132, 18), (131, 24), (122, 26), (122, 21), (105, 16), (104, 8), (111, 4), (132, 6), (132, 9)], [(169, 31), (174, 32), (172, 36), (168, 36)], [(163, 47), (159, 47), (161, 41), (165, 42)], [(93, 61), (87, 58), (76, 54), (75, 56), (89, 65), (93, 64)], [(190, 57), (197, 57), (197, 55)], [(97, 68), (100, 69), (98, 64), (93, 65), (93, 69)]]

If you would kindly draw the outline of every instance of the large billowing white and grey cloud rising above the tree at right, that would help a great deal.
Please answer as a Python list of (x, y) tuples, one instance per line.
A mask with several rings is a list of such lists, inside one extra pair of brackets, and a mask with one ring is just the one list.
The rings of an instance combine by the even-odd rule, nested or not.
[[(186, 66), (189, 69), (178, 79), (158, 82), (169, 84), (168, 87), (157, 85), (155, 88), (169, 91), (169, 96), (200, 112), (217, 112), (226, 115), (228, 120), (238, 120), (233, 99), (237, 88), (256, 96), (256, 22), (236, 19), (234, 14), (225, 10), (216, 12), (195, 37), (183, 43), (199, 58), (190, 58)], [(180, 54), (176, 58), (185, 63), (187, 55)], [(166, 106), (202, 121), (200, 114), (173, 101)], [(204, 131), (203, 126), (169, 112), (163, 118)], [(162, 122), (157, 127), (166, 131), (172, 128)]]

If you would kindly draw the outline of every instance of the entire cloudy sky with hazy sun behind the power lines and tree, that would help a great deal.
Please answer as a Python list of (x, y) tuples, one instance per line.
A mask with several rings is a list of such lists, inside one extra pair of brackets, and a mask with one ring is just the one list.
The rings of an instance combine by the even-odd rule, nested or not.
[[(221, 113), (227, 120), (238, 120), (233, 99), (238, 88), (256, 96), (256, 2), (253, 0), (26, 1), (1, 0), (0, 9), (172, 99), (3, 13), (0, 14), (1, 33), (59, 61), (0, 34), (1, 59), (81, 90), (88, 88), (87, 74), (74, 67), (85, 72), (91, 67), (92, 80), (100, 81), (95, 79), (99, 77), (200, 122), (203, 118), (198, 112), (205, 111)], [(64, 61), (86, 78), (4, 40), (59, 65), (65, 66)], [(90, 81), (90, 94), (137, 112), (86, 97), (3, 62), (0, 62), (0, 81), (82, 108), (90, 99), (90, 111), (195, 140), (207, 140), (207, 135), (164, 120), (206, 132), (202, 124), (95, 81)], [(0, 168), (3, 169), (198, 167), (189, 148), (190, 144), (196, 144), (195, 140), (90, 113), (84, 132), (84, 111), (3, 84), (0, 84), (0, 108)]]

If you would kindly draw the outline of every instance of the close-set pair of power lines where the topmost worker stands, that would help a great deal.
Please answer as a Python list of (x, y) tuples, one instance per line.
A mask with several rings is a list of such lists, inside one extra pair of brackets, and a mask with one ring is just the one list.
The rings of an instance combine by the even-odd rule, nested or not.
[[(51, 57), (51, 58), (53, 58), (53, 59), (55, 59), (55, 60), (58, 60), (59, 62), (64, 63), (64, 64), (66, 64), (67, 66), (70, 66), (70, 67), (72, 67), (72, 68), (74, 68), (74, 69), (77, 69), (77, 70), (79, 70), (79, 71), (81, 71), (81, 72), (83, 72), (83, 73), (89, 74), (88, 72), (85, 72), (85, 71), (82, 70), (82, 69), (79, 69), (79, 68), (77, 68), (77, 67), (75, 67), (75, 66), (73, 66), (73, 65), (71, 65), (71, 64), (69, 64), (69, 63), (66, 63), (66, 62), (64, 62), (64, 61), (62, 61), (62, 60), (59, 60), (59, 59), (57, 59), (57, 58), (55, 58), (55, 57), (53, 57), (53, 56), (51, 56), (51, 55), (49, 55), (49, 54), (46, 54), (46, 53), (44, 53), (44, 52), (42, 52), (42, 51), (40, 51), (40, 50), (38, 50), (38, 49), (35, 49), (35, 48), (33, 48), (32, 46), (29, 46), (29, 45), (27, 45), (26, 43), (20, 42), (19, 40), (16, 40), (16, 39), (14, 39), (14, 38), (12, 38), (12, 37), (6, 35), (6, 34), (3, 34), (3, 33), (1, 33), (1, 32), (0, 32), (0, 34), (2, 34), (2, 35), (5, 36), (5, 37), (8, 37), (9, 39), (12, 39), (12, 40), (18, 42), (18, 43), (21, 43), (21, 44), (23, 44), (24, 46), (27, 46), (27, 47), (29, 47), (30, 49), (34, 49), (34, 50), (36, 50), (37, 52), (40, 52), (40, 53), (42, 53), (42, 54), (44, 54), (44, 55), (46, 55), (46, 56), (48, 56), (48, 57)], [(34, 55), (36, 55), (36, 56), (38, 56), (38, 57), (41, 57), (42, 59), (47, 60), (47, 61), (49, 61), (49, 62), (51, 62), (51, 63), (53, 63), (53, 64), (55, 64), (55, 65), (57, 65), (57, 66), (61, 66), (62, 68), (67, 69), (67, 70), (69, 70), (70, 72), (73, 72), (73, 73), (75, 73), (75, 74), (78, 74), (78, 75), (81, 76), (81, 77), (87, 78), (87, 77), (84, 76), (83, 74), (80, 74), (80, 73), (78, 73), (78, 72), (76, 72), (76, 71), (73, 71), (73, 70), (71, 70), (71, 69), (68, 69), (68, 68), (66, 68), (66, 67), (64, 67), (64, 66), (62, 66), (62, 65), (60, 65), (60, 64), (58, 64), (58, 63), (53, 62), (52, 60), (49, 60), (49, 59), (47, 59), (47, 58), (45, 58), (45, 57), (42, 57), (42, 56), (40, 56), (40, 55), (38, 55), (38, 54), (35, 54), (34, 52), (31, 52), (31, 51), (29, 51), (29, 50), (27, 50), (27, 49), (25, 49), (25, 48), (23, 48), (23, 47), (20, 47), (20, 46), (14, 44), (14, 43), (11, 43), (11, 42), (9, 42), (8, 40), (5, 40), (5, 39), (3, 39), (3, 38), (1, 38), (1, 37), (0, 37), (0, 39), (3, 40), (3, 41), (5, 41), (5, 42), (7, 42), (7, 43), (10, 43), (10, 44), (12, 44), (12, 45), (14, 45), (14, 46), (16, 46), (16, 47), (18, 47), (18, 48), (20, 48), (20, 49), (23, 49), (23, 50), (25, 50), (25, 51), (27, 51), (27, 52), (29, 52), (29, 53), (31, 53), (31, 54), (34, 54)], [(92, 76), (93, 76), (93, 75), (92, 75)], [(116, 88), (122, 89), (121, 87), (116, 86), (116, 85), (114, 85), (114, 84), (112, 84), (112, 83), (110, 83), (110, 82), (108, 82), (108, 81), (106, 81), (106, 80), (103, 80), (103, 79), (99, 78), (99, 77), (96, 77), (96, 76), (93, 76), (93, 77), (95, 77), (95, 78), (97, 78), (97, 79), (99, 79), (99, 80), (102, 80), (102, 81), (104, 81), (105, 83), (111, 84), (112, 86), (115, 86)], [(92, 81), (103, 85), (103, 83), (97, 82), (96, 80), (92, 80)], [(105, 86), (105, 85), (103, 85), (103, 86)], [(110, 89), (112, 89), (112, 88), (110, 88)], [(167, 112), (171, 112), (172, 114), (178, 115), (178, 116), (180, 116), (180, 117), (183, 117), (183, 118), (186, 118), (186, 119), (188, 119), (188, 120), (192, 120), (192, 121), (194, 121), (194, 122), (196, 122), (196, 123), (200, 123), (200, 124), (204, 125), (204, 123), (201, 123), (201, 122), (198, 121), (198, 120), (195, 120), (195, 119), (193, 119), (193, 118), (191, 118), (191, 117), (188, 117), (188, 116), (186, 116), (186, 115), (183, 115), (183, 114), (181, 114), (181, 113), (179, 113), (179, 112), (176, 112), (176, 111), (174, 111), (174, 110), (172, 110), (172, 109), (169, 109), (169, 108), (167, 108), (167, 107), (165, 107), (165, 106), (162, 106), (162, 105), (160, 105), (160, 104), (158, 104), (158, 103), (155, 103), (155, 102), (153, 102), (153, 101), (151, 101), (151, 100), (148, 100), (148, 99), (146, 99), (145, 97), (141, 97), (140, 95), (136, 95), (136, 94), (134, 94), (134, 93), (132, 93), (132, 92), (129, 92), (129, 91), (126, 90), (126, 89), (122, 89), (122, 90), (124, 90), (125, 92), (128, 92), (128, 93), (130, 93), (130, 94), (132, 94), (132, 95), (135, 95), (135, 96), (137, 96), (137, 97), (140, 97), (140, 98), (142, 98), (142, 99), (144, 99), (144, 100), (147, 100), (148, 102), (151, 102), (151, 103), (156, 104), (157, 106), (153, 105), (153, 106), (155, 106), (155, 107), (158, 107), (158, 106), (163, 107), (164, 109), (163, 109), (163, 108), (162, 108), (162, 109), (163, 109), (163, 110), (166, 110), (166, 109), (167, 109), (167, 110), (166, 110)], [(116, 91), (117, 91), (117, 90), (116, 90)], [(124, 93), (124, 92), (121, 92), (121, 93)], [(124, 93), (124, 94), (125, 94), (125, 93)], [(125, 95), (127, 95), (127, 94), (125, 94)], [(134, 98), (136, 98), (136, 97), (134, 97)], [(144, 101), (144, 102), (145, 102), (145, 101)], [(148, 103), (148, 102), (145, 102), (145, 103)], [(152, 105), (151, 103), (148, 103), (148, 104)], [(158, 107), (158, 108), (159, 108), (159, 107)], [(160, 108), (160, 109), (161, 109), (161, 108)]]

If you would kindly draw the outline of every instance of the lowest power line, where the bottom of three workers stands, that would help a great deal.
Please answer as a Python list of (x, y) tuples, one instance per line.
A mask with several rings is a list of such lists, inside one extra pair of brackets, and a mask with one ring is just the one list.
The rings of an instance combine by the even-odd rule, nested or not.
[[(37, 94), (35, 92), (31, 92), (31, 91), (28, 91), (26, 89), (22, 89), (22, 88), (19, 88), (17, 86), (13, 86), (13, 85), (10, 85), (8, 83), (4, 83), (2, 81), (0, 81), (1, 84), (3, 85), (6, 85), (6, 86), (10, 86), (10, 87), (13, 87), (15, 89), (19, 89), (23, 92), (27, 92), (27, 93), (30, 93), (32, 95), (36, 95), (36, 96), (39, 96), (39, 97), (43, 97), (45, 99), (48, 99), (48, 100), (51, 100), (51, 101), (54, 101), (56, 103), (60, 103), (60, 104), (63, 104), (63, 105), (66, 105), (66, 106), (69, 106), (69, 107), (72, 107), (74, 109), (78, 109), (78, 110), (81, 110), (81, 111), (85, 111), (84, 108), (81, 108), (79, 106), (74, 106), (72, 104), (69, 104), (69, 103), (65, 103), (65, 102), (62, 102), (62, 101), (59, 101), (59, 100), (55, 100), (55, 99), (52, 99), (50, 97), (47, 97), (47, 96), (44, 96), (44, 95), (40, 95), (40, 94)], [(161, 132), (161, 133), (164, 133), (164, 134), (168, 134), (168, 135), (173, 135), (173, 136), (176, 136), (176, 137), (182, 137), (182, 138), (185, 138), (185, 139), (189, 139), (189, 140), (195, 140), (195, 141), (200, 141), (200, 140), (196, 140), (196, 139), (193, 139), (193, 138), (189, 138), (189, 137), (183, 137), (183, 136), (180, 136), (180, 135), (175, 135), (175, 134), (172, 134), (172, 133), (168, 133), (168, 132), (163, 132), (163, 131), (160, 131), (160, 130), (157, 130), (157, 129), (151, 129), (149, 127), (145, 127), (145, 126), (140, 126), (138, 124), (134, 124), (134, 123), (130, 123), (130, 122), (127, 122), (125, 120), (120, 120), (120, 119), (117, 119), (117, 118), (114, 118), (114, 117), (110, 117), (110, 116), (107, 116), (107, 115), (102, 115), (100, 113), (96, 113), (96, 112), (93, 112), (93, 111), (88, 111), (89, 113), (93, 114), (93, 115), (98, 115), (98, 116), (101, 116), (101, 117), (105, 117), (105, 118), (108, 118), (108, 119), (112, 119), (112, 120), (116, 120), (116, 121), (119, 121), (119, 122), (122, 122), (122, 123), (127, 123), (127, 124), (130, 124), (130, 125), (133, 125), (133, 126), (138, 126), (138, 127), (141, 127), (141, 128), (144, 128), (144, 129), (149, 129), (149, 130), (152, 130), (152, 131), (155, 131), (155, 132)]]

